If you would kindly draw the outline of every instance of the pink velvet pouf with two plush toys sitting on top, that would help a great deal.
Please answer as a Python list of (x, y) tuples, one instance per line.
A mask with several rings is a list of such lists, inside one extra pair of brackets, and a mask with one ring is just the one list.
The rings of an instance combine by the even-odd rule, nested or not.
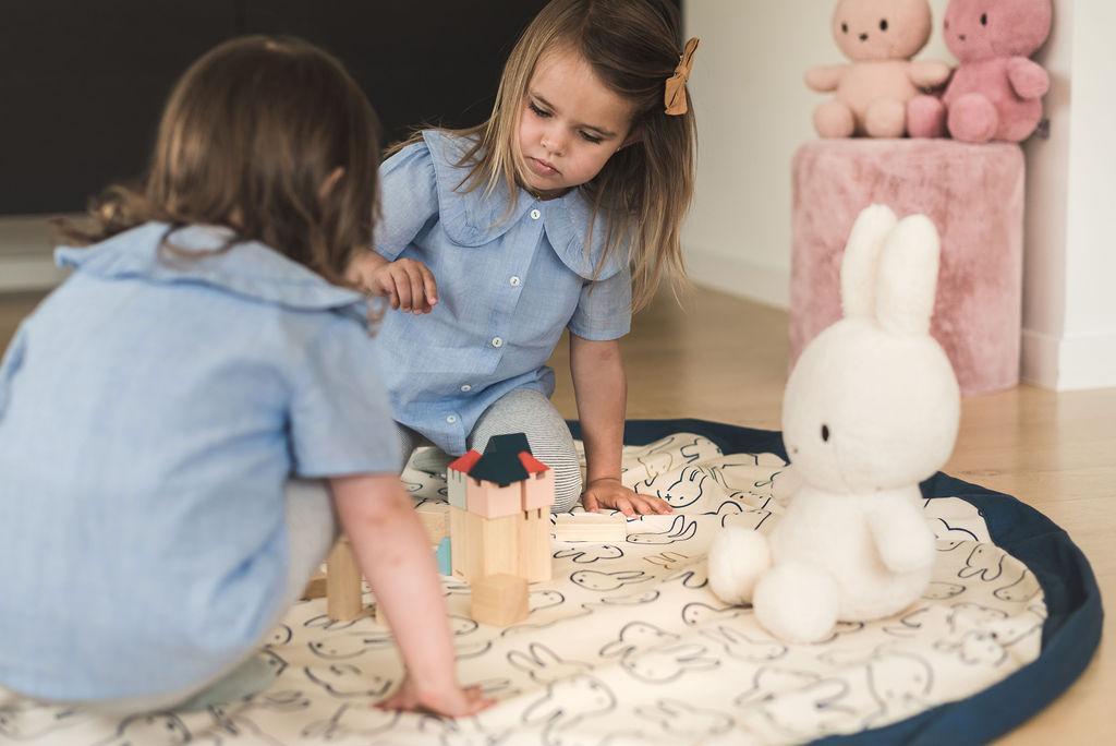
[(793, 163), (791, 364), (841, 317), (840, 259), (853, 221), (878, 202), (927, 214), (942, 238), (931, 333), (963, 394), (1019, 383), (1023, 153), (952, 140), (821, 140)]

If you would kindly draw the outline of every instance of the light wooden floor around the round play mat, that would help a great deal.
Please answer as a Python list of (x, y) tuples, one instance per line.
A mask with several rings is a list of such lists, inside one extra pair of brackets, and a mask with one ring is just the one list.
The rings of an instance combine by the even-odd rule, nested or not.
[[(0, 346), (39, 296), (0, 296)], [(778, 429), (787, 373), (787, 314), (695, 290), (660, 298), (623, 341), (628, 417), (700, 418)], [(576, 417), (566, 345), (552, 365), (555, 401)], [(1069, 532), (1104, 597), (1116, 597), (1116, 389), (1055, 394), (1020, 386), (966, 399), (945, 470), (1014, 495)], [(1113, 633), (1106, 620), (1106, 637)], [(1101, 740), (1116, 696), (1116, 653), (1101, 643), (1081, 679), (1001, 743)]]

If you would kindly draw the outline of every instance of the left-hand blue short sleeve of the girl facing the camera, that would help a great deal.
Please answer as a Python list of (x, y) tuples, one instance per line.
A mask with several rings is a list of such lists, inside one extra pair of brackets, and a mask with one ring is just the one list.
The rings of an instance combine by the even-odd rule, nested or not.
[(426, 222), (437, 216), (434, 161), (425, 142), (407, 145), (379, 166), (381, 218), (376, 251), (394, 261)]

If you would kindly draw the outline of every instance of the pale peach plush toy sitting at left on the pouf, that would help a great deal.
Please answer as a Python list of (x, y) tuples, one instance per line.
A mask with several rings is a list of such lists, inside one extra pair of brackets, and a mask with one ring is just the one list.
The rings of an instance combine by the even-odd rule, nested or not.
[(921, 88), (934, 88), (950, 76), (939, 61), (911, 61), (926, 45), (932, 28), (926, 0), (840, 0), (834, 9), (833, 35), (850, 65), (816, 67), (806, 85), (836, 97), (815, 111), (822, 137), (902, 137), (907, 105)]

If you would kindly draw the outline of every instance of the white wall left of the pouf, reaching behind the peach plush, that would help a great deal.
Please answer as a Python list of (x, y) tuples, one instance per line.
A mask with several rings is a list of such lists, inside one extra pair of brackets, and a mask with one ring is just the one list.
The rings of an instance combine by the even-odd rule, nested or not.
[[(829, 32), (833, 2), (686, 0), (700, 36), (690, 92), (699, 127), (698, 189), (683, 231), (692, 278), (766, 304), (789, 305), (790, 160), (815, 137), (825, 98), (802, 82), (847, 61)], [(952, 60), (936, 32), (920, 58)]]

